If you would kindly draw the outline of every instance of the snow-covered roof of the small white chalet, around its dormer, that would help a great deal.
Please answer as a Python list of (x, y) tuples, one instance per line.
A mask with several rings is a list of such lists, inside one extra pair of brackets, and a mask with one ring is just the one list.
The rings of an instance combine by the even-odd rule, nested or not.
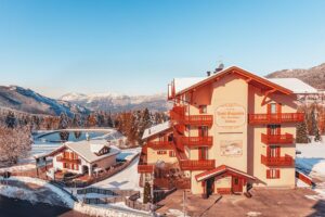
[(79, 156), (81, 156), (82, 158), (84, 158), (87, 162), (92, 163), (92, 162), (96, 162), (101, 158), (105, 158), (108, 156), (113, 156), (113, 155), (117, 155), (120, 153), (120, 151), (118, 149), (112, 148), (109, 146), (109, 152), (103, 155), (96, 155), (93, 151), (92, 151), (92, 145), (93, 144), (98, 144), (98, 146), (105, 146), (107, 145), (107, 142), (105, 140), (83, 140), (83, 141), (79, 141), (79, 142), (66, 142), (64, 143), (64, 145), (68, 149), (70, 149), (72, 151), (76, 152)]

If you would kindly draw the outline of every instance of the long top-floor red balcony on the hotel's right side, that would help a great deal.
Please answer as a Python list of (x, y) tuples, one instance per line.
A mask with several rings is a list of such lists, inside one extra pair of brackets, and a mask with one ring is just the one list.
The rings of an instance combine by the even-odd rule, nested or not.
[(304, 113), (249, 114), (249, 124), (282, 124), (303, 122)]

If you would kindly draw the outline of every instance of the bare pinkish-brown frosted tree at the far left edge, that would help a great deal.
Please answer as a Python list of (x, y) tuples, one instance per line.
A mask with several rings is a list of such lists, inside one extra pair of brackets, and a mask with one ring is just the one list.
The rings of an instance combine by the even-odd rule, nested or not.
[(29, 127), (12, 129), (0, 126), (0, 162), (16, 164), (20, 157), (25, 157), (31, 150), (31, 143)]

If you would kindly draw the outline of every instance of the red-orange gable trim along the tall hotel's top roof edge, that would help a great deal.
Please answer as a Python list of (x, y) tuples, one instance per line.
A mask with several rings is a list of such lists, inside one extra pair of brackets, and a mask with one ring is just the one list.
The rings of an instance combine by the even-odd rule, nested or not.
[(230, 74), (230, 73), (236, 73), (237, 75), (240, 75), (240, 76), (244, 76), (244, 77), (247, 77), (249, 79), (252, 79), (252, 80), (256, 80), (266, 87), (270, 87), (271, 89), (275, 89), (280, 92), (283, 92), (285, 94), (292, 94), (294, 92), (287, 88), (284, 88), (282, 86), (278, 86), (274, 82), (271, 82), (270, 80), (265, 79), (265, 78), (262, 78), (260, 76), (257, 76), (255, 74), (251, 74), (243, 68), (239, 68), (237, 66), (232, 66), (232, 67), (229, 67), (224, 71), (221, 71), (220, 73), (217, 73), (214, 75), (211, 75), (210, 77), (208, 77), (207, 79), (204, 79), (202, 80), (200, 82), (197, 82), (184, 90), (181, 90), (180, 92), (176, 93), (177, 95), (180, 95), (180, 94), (183, 94), (194, 88), (198, 88), (198, 87), (202, 87), (202, 86), (205, 86), (207, 84), (209, 84), (210, 81), (214, 80), (216, 78), (219, 78), (219, 77), (222, 77), (222, 76), (225, 76), (226, 74)]

